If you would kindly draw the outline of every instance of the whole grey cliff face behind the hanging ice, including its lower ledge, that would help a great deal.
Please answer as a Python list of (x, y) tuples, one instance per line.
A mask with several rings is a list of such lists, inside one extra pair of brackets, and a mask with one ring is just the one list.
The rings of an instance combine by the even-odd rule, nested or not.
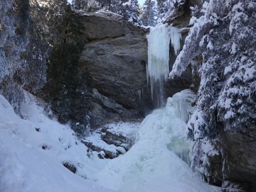
[[(134, 119), (147, 115), (157, 107), (155, 100), (151, 99), (146, 76), (146, 35), (150, 30), (134, 26), (122, 16), (109, 12), (80, 12), (80, 15), (86, 28), (80, 73), (88, 73), (92, 87), (97, 89), (93, 91), (93, 108), (96, 110), (92, 111), (92, 116), (98, 116), (93, 122), (96, 125), (94, 127), (117, 119)], [(172, 52), (170, 54), (174, 55)], [(170, 66), (174, 62), (174, 56), (171, 58)], [(191, 73), (167, 82), (164, 85), (165, 98), (190, 85)], [(104, 97), (105, 102), (102, 102)], [(112, 104), (109, 105), (110, 103)]]

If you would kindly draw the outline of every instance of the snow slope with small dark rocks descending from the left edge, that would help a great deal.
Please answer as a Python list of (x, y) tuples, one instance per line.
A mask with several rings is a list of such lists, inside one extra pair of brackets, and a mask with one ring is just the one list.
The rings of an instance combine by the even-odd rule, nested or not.
[[(48, 119), (32, 100), (22, 106), (21, 119), (0, 95), (0, 191), (112, 191), (84, 179), (106, 160), (90, 160), (73, 131)], [(63, 162), (74, 164), (77, 173)]]

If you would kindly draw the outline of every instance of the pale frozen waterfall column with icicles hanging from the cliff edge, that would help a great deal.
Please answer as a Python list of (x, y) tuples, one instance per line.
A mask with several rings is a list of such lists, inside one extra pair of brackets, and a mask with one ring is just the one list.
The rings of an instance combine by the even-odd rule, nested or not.
[(170, 41), (175, 55), (177, 55), (180, 49), (180, 39), (181, 34), (179, 29), (169, 27), (166, 24), (159, 24), (156, 27), (152, 27), (150, 34), (147, 35), (147, 81), (150, 78), (152, 99), (155, 82), (166, 81), (168, 78)]

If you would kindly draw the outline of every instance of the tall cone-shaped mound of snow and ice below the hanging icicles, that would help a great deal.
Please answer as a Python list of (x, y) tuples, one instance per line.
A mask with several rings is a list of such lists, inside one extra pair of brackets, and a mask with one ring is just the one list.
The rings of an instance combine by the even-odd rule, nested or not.
[[(187, 93), (181, 92), (174, 98), (188, 101)], [(188, 157), (191, 141), (187, 140), (186, 123), (177, 114), (175, 106), (179, 104), (174, 98), (168, 99), (166, 107), (146, 116), (133, 147), (96, 174), (100, 185), (117, 191), (219, 190), (204, 183), (181, 160)]]

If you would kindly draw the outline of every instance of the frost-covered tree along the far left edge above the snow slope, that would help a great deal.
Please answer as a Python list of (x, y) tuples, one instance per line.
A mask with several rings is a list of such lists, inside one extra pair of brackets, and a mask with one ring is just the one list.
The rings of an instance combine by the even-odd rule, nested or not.
[(23, 100), (22, 85), (14, 76), (26, 61), (20, 56), (26, 50), (28, 39), (28, 1), (0, 2), (0, 94), (19, 111)]

